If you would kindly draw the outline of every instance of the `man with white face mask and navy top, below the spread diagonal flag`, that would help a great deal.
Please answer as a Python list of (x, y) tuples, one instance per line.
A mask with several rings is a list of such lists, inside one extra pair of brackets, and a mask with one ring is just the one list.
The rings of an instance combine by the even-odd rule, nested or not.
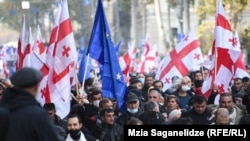
[(173, 95), (180, 99), (180, 108), (182, 110), (190, 109), (191, 98), (194, 95), (194, 93), (190, 91), (190, 83), (191, 80), (188, 76), (183, 77), (177, 91), (173, 93)]

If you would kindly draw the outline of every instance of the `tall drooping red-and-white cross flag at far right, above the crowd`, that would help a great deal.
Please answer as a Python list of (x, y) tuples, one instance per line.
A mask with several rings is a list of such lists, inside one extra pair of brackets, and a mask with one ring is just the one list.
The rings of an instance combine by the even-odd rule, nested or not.
[(206, 97), (211, 93), (214, 84), (218, 86), (220, 94), (228, 92), (234, 74), (234, 63), (240, 55), (237, 48), (238, 39), (233, 36), (221, 0), (218, 0), (217, 4), (214, 38), (212, 51), (214, 66), (210, 70), (214, 73), (209, 75), (202, 86), (202, 93)]

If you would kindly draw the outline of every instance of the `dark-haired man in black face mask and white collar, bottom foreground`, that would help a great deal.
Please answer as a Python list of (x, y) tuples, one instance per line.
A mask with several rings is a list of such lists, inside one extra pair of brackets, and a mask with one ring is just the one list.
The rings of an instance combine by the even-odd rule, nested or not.
[(95, 138), (81, 131), (82, 122), (77, 114), (68, 116), (67, 132), (65, 141), (95, 141)]

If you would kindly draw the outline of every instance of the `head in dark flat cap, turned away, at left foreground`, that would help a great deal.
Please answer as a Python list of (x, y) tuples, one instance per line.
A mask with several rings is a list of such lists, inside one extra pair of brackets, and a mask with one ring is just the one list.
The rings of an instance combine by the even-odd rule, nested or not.
[(10, 80), (15, 88), (23, 89), (35, 97), (38, 93), (42, 78), (43, 74), (39, 70), (24, 67), (16, 71)]

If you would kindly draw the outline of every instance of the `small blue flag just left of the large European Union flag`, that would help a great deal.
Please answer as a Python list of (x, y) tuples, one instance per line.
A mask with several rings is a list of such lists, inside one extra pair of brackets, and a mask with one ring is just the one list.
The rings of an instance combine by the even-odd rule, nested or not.
[[(82, 50), (82, 51), (83, 51), (82, 52), (82, 59), (81, 59), (81, 62), (80, 62), (79, 74), (78, 74), (78, 80), (79, 80), (80, 83), (82, 83), (84, 80), (90, 78), (90, 70), (92, 69), (90, 61), (87, 64), (87, 57), (88, 57), (86, 55), (87, 51), (85, 49)], [(85, 76), (85, 79), (83, 80), (85, 70), (86, 70), (86, 76)]]

